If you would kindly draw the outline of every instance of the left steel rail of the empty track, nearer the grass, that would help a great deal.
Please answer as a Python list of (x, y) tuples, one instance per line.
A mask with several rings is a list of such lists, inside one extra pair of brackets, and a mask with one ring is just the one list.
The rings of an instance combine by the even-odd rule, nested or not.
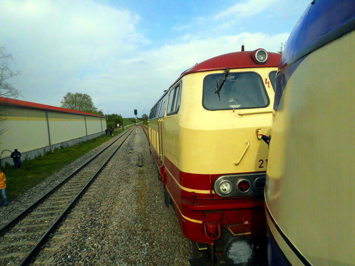
[(68, 182), (75, 174), (80, 172), (85, 166), (87, 166), (90, 162), (92, 162), (95, 158), (97, 158), (100, 154), (102, 154), (105, 150), (107, 150), (111, 145), (113, 145), (117, 140), (119, 140), (121, 137), (123, 137), (128, 132), (129, 132), (129, 130), (127, 130), (127, 132), (125, 132), (120, 137), (118, 137), (114, 142), (109, 144), (106, 148), (104, 148), (102, 151), (100, 151), (98, 154), (96, 154), (94, 157), (92, 157), (90, 160), (88, 160), (86, 163), (84, 163), (82, 166), (80, 166), (76, 171), (74, 171), (69, 176), (67, 176), (63, 181), (61, 181), (58, 185), (56, 185), (54, 188), (49, 190), (41, 198), (39, 198), (37, 201), (35, 201), (31, 206), (27, 207), (26, 210), (22, 211), (19, 215), (17, 215), (10, 222), (8, 222), (4, 227), (0, 228), (0, 235), (3, 235), (7, 231), (9, 231), (10, 228), (15, 226), (19, 221), (21, 221), (22, 218), (25, 217), (27, 214), (29, 214), (29, 212), (31, 212), (35, 207), (37, 207), (39, 204), (41, 204), (45, 199), (47, 199), (51, 194), (53, 194), (56, 190), (58, 190), (62, 185), (64, 185), (66, 182)]

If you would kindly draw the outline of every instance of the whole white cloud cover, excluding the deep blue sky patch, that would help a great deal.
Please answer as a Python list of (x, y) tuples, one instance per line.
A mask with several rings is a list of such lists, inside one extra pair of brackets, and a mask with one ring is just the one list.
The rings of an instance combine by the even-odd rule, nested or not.
[[(271, 0), (262, 2), (265, 8)], [(217, 16), (229, 12), (237, 20), (256, 4), (250, 0)], [(155, 40), (149, 48), (152, 41), (139, 30), (138, 14), (92, 0), (0, 0), (0, 10), (0, 46), (13, 53), (13, 69), (21, 71), (12, 82), (23, 100), (59, 106), (67, 92), (87, 93), (105, 113), (124, 117), (133, 116), (133, 109), (149, 113), (163, 90), (196, 63), (240, 51), (241, 45), (278, 51), (289, 35), (248, 33), (249, 25), (234, 19), (215, 23), (206, 16), (174, 28), (182, 34), (175, 31), (170, 43)], [(236, 29), (221, 31), (231, 25)]]

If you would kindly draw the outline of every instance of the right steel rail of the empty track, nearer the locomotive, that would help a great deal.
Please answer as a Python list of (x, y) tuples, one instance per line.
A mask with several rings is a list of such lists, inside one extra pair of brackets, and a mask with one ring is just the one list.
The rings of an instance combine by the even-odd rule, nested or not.
[[(133, 127), (134, 129), (134, 127)], [(132, 129), (132, 131), (133, 131)], [(130, 134), (132, 133), (130, 132)], [(128, 132), (128, 131), (127, 131)], [(126, 133), (125, 133), (126, 134)], [(87, 188), (91, 185), (91, 183), (95, 180), (95, 178), (99, 175), (101, 170), (106, 166), (106, 164), (111, 160), (111, 158), (114, 156), (116, 151), (122, 146), (122, 144), (126, 141), (126, 139), (130, 136), (128, 134), (126, 138), (122, 141), (122, 143), (113, 151), (113, 153), (108, 157), (108, 159), (104, 162), (104, 164), (100, 167), (100, 169), (94, 174), (94, 176), (90, 179), (90, 181), (84, 186), (84, 188), (78, 193), (78, 195), (73, 199), (73, 201), (69, 204), (69, 206), (62, 212), (62, 214), (57, 218), (57, 220), (53, 223), (53, 225), (47, 230), (47, 232), (44, 233), (41, 239), (38, 240), (38, 242), (34, 245), (34, 247), (29, 251), (26, 257), (20, 262), (19, 266), (27, 266), (29, 265), (33, 258), (38, 254), (40, 248), (47, 242), (49, 235), (53, 233), (58, 225), (65, 219), (67, 214), (75, 207), (75, 204), (77, 203), (78, 200), (80, 200), (81, 196), (85, 194)], [(122, 135), (123, 136), (123, 135)], [(121, 136), (121, 137), (122, 137)], [(118, 140), (118, 139), (117, 139)], [(117, 141), (116, 140), (116, 141)], [(116, 142), (115, 141), (115, 142)], [(114, 142), (113, 142), (114, 143)], [(109, 145), (111, 146), (111, 145)], [(105, 149), (104, 149), (105, 150)]]

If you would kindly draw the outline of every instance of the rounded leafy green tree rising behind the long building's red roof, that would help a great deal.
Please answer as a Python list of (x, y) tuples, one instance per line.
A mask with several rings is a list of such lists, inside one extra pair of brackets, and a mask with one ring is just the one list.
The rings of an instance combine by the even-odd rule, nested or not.
[(67, 93), (64, 97), (63, 100), (60, 101), (60, 107), (67, 108), (67, 109), (72, 109), (72, 110), (77, 110), (77, 111), (83, 111), (83, 112), (88, 112), (88, 113), (93, 113), (93, 112), (99, 112), (102, 110), (98, 110), (92, 101), (92, 98), (90, 95), (86, 93)]

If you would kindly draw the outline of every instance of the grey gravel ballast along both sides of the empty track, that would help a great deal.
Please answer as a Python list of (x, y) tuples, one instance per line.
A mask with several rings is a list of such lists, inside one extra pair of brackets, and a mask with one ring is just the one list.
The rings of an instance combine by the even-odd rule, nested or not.
[[(101, 148), (2, 208), (1, 222), (30, 205)], [(137, 166), (138, 153), (142, 153), (142, 167)], [(190, 265), (191, 251), (191, 242), (182, 234), (175, 211), (164, 205), (162, 182), (158, 181), (147, 137), (140, 128), (138, 134), (133, 130), (34, 264)]]

